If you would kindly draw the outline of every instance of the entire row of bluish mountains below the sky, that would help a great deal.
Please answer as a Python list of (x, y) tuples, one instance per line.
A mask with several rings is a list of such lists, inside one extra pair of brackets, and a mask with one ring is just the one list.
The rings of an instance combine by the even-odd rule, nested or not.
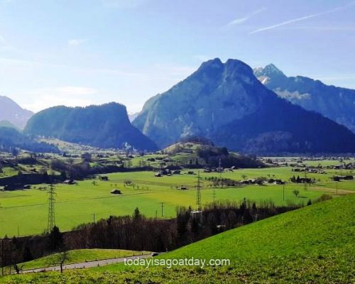
[(148, 99), (130, 117), (117, 103), (52, 107), (33, 115), (0, 97), (0, 127), (6, 126), (0, 142), (10, 147), (4, 135), (22, 135), (7, 131), (28, 121), (25, 135), (12, 140), (21, 143), (13, 146), (25, 145), (26, 134), (31, 134), (99, 148), (153, 151), (202, 136), (217, 146), (261, 155), (355, 153), (355, 134), (349, 130), (355, 131), (354, 114), (355, 90), (287, 77), (275, 65), (252, 70), (239, 60), (223, 63), (216, 58)]

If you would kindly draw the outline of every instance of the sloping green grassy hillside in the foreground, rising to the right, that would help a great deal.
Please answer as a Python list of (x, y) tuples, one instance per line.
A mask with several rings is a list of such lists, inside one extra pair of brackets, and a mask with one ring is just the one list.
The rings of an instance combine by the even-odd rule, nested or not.
[(229, 258), (231, 266), (128, 268), (0, 278), (0, 283), (354, 283), (355, 195), (280, 214), (161, 258)]

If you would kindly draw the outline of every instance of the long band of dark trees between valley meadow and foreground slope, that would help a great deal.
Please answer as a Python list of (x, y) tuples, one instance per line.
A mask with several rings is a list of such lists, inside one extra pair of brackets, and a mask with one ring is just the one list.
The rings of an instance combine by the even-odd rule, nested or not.
[(30, 261), (60, 249), (129, 249), (134, 251), (171, 251), (222, 231), (256, 222), (267, 217), (299, 208), (288, 204), (275, 207), (273, 202), (256, 204), (217, 202), (208, 204), (202, 212), (178, 207), (175, 219), (147, 218), (139, 209), (131, 216), (100, 219), (82, 224), (73, 231), (61, 233), (57, 227), (50, 234), (28, 236), (0, 241), (1, 265)]

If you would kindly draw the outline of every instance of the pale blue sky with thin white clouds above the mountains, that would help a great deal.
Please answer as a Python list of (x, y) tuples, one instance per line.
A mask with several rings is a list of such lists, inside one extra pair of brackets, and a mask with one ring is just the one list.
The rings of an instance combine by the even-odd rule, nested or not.
[(210, 58), (355, 89), (355, 1), (0, 0), (0, 94), (140, 111)]

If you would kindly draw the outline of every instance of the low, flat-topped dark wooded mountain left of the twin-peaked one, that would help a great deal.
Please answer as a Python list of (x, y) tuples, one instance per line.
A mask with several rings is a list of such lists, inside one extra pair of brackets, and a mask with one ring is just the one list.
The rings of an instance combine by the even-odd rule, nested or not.
[(24, 132), (100, 148), (156, 148), (131, 125), (126, 107), (116, 103), (45, 109), (28, 121)]

